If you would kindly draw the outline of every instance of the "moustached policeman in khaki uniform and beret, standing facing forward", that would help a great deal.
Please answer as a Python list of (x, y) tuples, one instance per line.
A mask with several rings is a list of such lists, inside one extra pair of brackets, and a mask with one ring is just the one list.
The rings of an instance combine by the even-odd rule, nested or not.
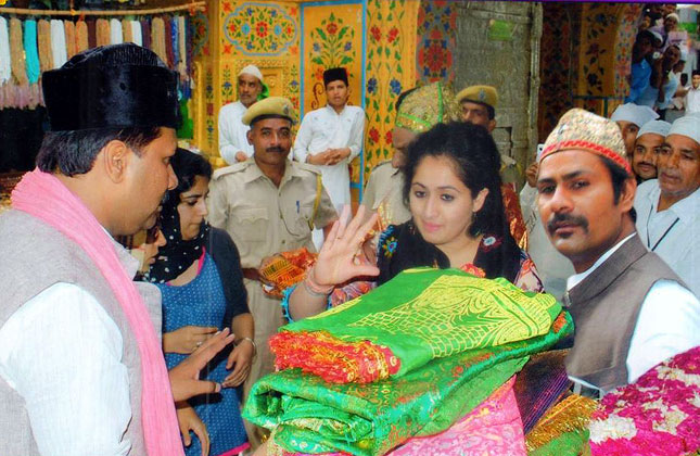
[[(296, 114), (282, 97), (251, 105), (242, 118), (254, 154), (245, 162), (217, 169), (209, 183), (208, 220), (226, 229), (241, 254), (249, 306), (255, 319), (257, 357), (244, 393), (272, 371), (267, 340), (284, 325), (280, 301), (262, 289), (258, 269), (264, 258), (302, 246), (315, 251), (311, 228), (330, 229), (338, 218), (322, 187), (318, 168), (288, 160)], [(250, 432), (249, 432), (250, 433)]]

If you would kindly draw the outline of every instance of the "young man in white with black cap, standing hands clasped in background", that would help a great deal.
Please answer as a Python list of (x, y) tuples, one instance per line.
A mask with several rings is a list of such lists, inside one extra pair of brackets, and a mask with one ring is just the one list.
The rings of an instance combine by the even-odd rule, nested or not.
[(347, 165), (362, 149), (365, 112), (347, 104), (345, 68), (323, 72), (323, 84), (328, 104), (304, 116), (294, 141), (294, 159), (319, 166), (323, 186), (340, 211), (351, 202)]

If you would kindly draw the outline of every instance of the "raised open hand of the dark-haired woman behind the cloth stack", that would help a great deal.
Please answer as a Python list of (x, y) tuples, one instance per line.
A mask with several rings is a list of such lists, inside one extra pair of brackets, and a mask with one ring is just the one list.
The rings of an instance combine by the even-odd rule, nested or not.
[(365, 206), (360, 205), (355, 217), (348, 223), (349, 206), (343, 207), (340, 219), (333, 224), (314, 265), (314, 281), (317, 284), (336, 286), (354, 277), (379, 275), (376, 265), (361, 259), (362, 243), (378, 218), (378, 215), (373, 214), (362, 223), (365, 212)]

